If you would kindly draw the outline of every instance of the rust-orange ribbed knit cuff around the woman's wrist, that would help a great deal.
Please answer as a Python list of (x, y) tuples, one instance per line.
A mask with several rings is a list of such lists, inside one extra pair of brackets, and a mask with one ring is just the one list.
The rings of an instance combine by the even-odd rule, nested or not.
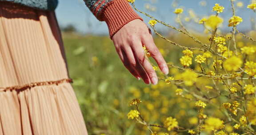
[(127, 0), (113, 0), (113, 3), (104, 10), (103, 16), (111, 39), (125, 24), (135, 19), (142, 20)]

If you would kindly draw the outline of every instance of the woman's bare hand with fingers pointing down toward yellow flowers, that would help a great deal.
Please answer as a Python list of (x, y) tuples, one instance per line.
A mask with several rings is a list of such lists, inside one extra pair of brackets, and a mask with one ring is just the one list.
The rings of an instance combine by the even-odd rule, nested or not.
[(143, 21), (136, 19), (124, 25), (116, 32), (112, 40), (124, 66), (137, 79), (142, 78), (147, 84), (151, 82), (157, 84), (158, 82), (156, 72), (144, 57), (142, 45), (148, 49), (161, 71), (166, 75), (168, 74), (168, 66)]

